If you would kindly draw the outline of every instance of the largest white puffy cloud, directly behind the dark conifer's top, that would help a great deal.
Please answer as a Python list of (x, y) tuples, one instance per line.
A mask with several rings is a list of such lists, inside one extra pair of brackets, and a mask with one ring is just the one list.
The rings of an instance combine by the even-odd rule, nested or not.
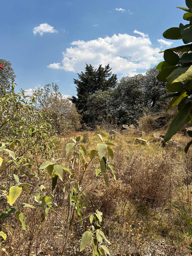
[(141, 36), (114, 34), (112, 37), (99, 37), (90, 41), (73, 41), (71, 47), (62, 52), (62, 63), (52, 63), (48, 68), (80, 72), (86, 63), (95, 68), (100, 64), (108, 65), (114, 73), (134, 75), (140, 70), (147, 70), (161, 59), (160, 48), (154, 48), (150, 38), (142, 32)]

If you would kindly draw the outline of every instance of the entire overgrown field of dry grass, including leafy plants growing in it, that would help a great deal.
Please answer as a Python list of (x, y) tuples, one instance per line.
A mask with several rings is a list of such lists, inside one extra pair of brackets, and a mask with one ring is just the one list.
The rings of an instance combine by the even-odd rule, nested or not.
[[(74, 158), (76, 145), (68, 154), (66, 145), (75, 144), (71, 138), (78, 136), (81, 137), (76, 145), (83, 145), (87, 155), (81, 150), (83, 153)], [(173, 139), (181, 147), (170, 142), (162, 145), (154, 139), (153, 132), (142, 136), (150, 144), (136, 143), (137, 137), (132, 130), (119, 131), (119, 134), (101, 129), (73, 132), (59, 139), (58, 149), (52, 154), (54, 159), (51, 156), (45, 159), (43, 154), (38, 153), (29, 156), (32, 167), (12, 167), (9, 176), (2, 171), (1, 185), (6, 190), (1, 190), (0, 210), (4, 212), (15, 208), (20, 211), (17, 215), (25, 213), (26, 221), (23, 223), (19, 218), (19, 224), (14, 211), (0, 220), (1, 230), (7, 234), (5, 241), (1, 238), (1, 255), (61, 255), (63, 247), (63, 255), (92, 255), (96, 247), (102, 252), (102, 248), (105, 249), (103, 245), (109, 249), (110, 255), (190, 255), (186, 247), (191, 242), (192, 234), (192, 149), (187, 155), (184, 153), (189, 137), (175, 135)], [(113, 168), (106, 169), (109, 186), (103, 173), (99, 173), (101, 167), (97, 152), (92, 152), (95, 157), (90, 161), (91, 150), (97, 150), (97, 143), (105, 142), (115, 144), (109, 144), (114, 156), (110, 151), (105, 153), (106, 162), (111, 159), (110, 163), (115, 165), (115, 176)], [(83, 147), (80, 146), (81, 149)], [(8, 154), (6, 158), (9, 159)], [(61, 158), (56, 162), (57, 166), (65, 169), (62, 177), (58, 175), (52, 191), (53, 178), (41, 164), (46, 161), (52, 164), (57, 158)], [(13, 174), (19, 177), (18, 187), (25, 183), (31, 186), (26, 185), (25, 190), (23, 185), (18, 199), (13, 206), (8, 206), (5, 194), (9, 194), (11, 186), (16, 186)], [(79, 189), (75, 182), (80, 184)], [(82, 202), (75, 201), (78, 198)], [(76, 211), (73, 210), (75, 207)], [(93, 229), (102, 230), (104, 237), (99, 237), (95, 231), (96, 247), (87, 241), (84, 249), (81, 244), (80, 251), (82, 234)], [(107, 250), (105, 253), (108, 253)]]

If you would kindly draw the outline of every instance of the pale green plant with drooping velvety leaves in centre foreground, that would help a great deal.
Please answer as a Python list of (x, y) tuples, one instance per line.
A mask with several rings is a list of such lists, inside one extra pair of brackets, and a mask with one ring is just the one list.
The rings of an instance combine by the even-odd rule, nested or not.
[[(62, 165), (58, 165), (57, 161), (59, 161), (60, 159), (56, 159), (54, 162), (47, 161), (40, 166), (40, 169), (46, 169), (48, 175), (52, 178), (52, 191), (56, 187), (58, 177), (61, 181), (63, 181), (63, 171), (67, 172), (67, 174), (69, 175), (69, 179), (63, 181), (62, 191), (64, 193), (67, 184), (69, 184), (69, 200), (70, 207), (72, 208), (72, 210), (70, 211), (71, 217), (69, 219), (68, 230), (66, 233), (61, 255), (65, 255), (64, 253), (66, 251), (67, 241), (74, 223), (79, 222), (82, 226), (83, 221), (86, 218), (84, 217), (83, 210), (86, 208), (86, 204), (88, 204), (89, 200), (86, 196), (86, 193), (84, 192), (85, 187), (83, 187), (82, 184), (84, 175), (86, 171), (90, 168), (93, 159), (98, 160), (98, 165), (100, 167), (95, 170), (95, 175), (96, 177), (102, 175), (106, 186), (109, 186), (109, 172), (111, 172), (114, 179), (116, 179), (114, 164), (112, 164), (109, 161), (110, 159), (113, 160), (114, 153), (111, 146), (115, 144), (111, 142), (104, 142), (100, 134), (98, 134), (98, 137), (100, 138), (101, 143), (97, 143), (97, 149), (91, 150), (90, 154), (88, 154), (86, 148), (80, 143), (80, 136), (78, 136), (76, 139), (72, 139), (72, 142), (66, 145), (66, 155), (70, 154), (71, 151), (73, 152), (72, 157), (70, 159), (70, 166), (62, 167)], [(107, 152), (108, 157), (106, 157)], [(79, 174), (77, 175), (75, 173), (75, 167), (78, 166), (78, 163)], [(42, 197), (40, 194), (38, 194), (37, 197), (39, 199), (36, 200), (39, 202), (40, 200), (42, 202), (46, 199), (45, 197)], [(40, 205), (42, 205), (42, 203)], [(45, 203), (42, 206), (44, 205)], [(75, 220), (75, 216), (77, 220)], [(92, 229), (89, 229), (83, 233), (80, 250), (83, 250), (87, 246), (87, 244), (89, 244), (89, 242), (92, 242), (93, 255), (105, 255), (104, 251), (109, 254), (109, 250), (104, 245), (99, 246), (99, 244), (102, 242), (102, 238), (105, 241), (109, 242), (105, 238), (104, 233), (101, 230), (102, 212), (97, 210), (96, 213), (91, 216), (91, 223), (93, 222), (93, 219), (95, 219), (95, 223), (99, 228), (94, 229), (94, 227), (92, 227)], [(89, 238), (88, 240), (87, 236)]]

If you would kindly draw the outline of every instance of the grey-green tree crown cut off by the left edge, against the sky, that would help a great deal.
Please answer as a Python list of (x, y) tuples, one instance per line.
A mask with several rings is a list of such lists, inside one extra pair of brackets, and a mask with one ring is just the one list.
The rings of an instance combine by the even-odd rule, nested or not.
[(4, 71), (0, 71), (0, 90), (3, 91), (11, 90), (11, 82), (14, 82), (15, 73), (11, 67), (11, 62), (5, 59), (0, 59), (0, 64), (4, 66)]

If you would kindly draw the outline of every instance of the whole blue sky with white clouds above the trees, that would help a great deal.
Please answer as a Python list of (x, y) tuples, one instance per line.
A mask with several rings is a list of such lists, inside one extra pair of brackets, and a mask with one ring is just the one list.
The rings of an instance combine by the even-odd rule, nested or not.
[(76, 95), (73, 79), (86, 63), (110, 64), (122, 76), (144, 73), (163, 60), (159, 51), (183, 45), (163, 38), (178, 27), (184, 0), (0, 0), (0, 58), (12, 63), (16, 92), (57, 83)]

